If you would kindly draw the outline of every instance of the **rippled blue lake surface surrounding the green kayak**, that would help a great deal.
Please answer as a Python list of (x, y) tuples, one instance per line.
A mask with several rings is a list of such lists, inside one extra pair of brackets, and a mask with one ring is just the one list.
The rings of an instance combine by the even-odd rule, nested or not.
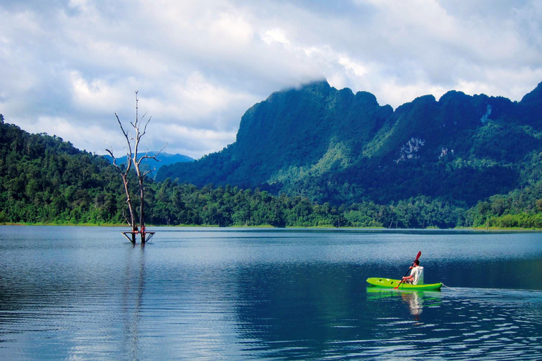
[(0, 226), (1, 360), (542, 359), (542, 233), (124, 230)]

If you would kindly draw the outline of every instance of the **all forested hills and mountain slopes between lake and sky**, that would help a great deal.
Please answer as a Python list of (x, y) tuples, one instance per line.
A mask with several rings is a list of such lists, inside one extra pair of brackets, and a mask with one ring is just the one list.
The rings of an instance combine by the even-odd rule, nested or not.
[[(449, 92), (439, 102), (422, 97), (396, 111), (371, 94), (327, 83), (273, 94), (243, 116), (234, 145), (182, 166), (181, 174), (205, 185), (148, 178), (145, 219), (151, 225), (542, 228), (541, 92), (539, 85), (519, 103)], [(311, 114), (303, 110), (307, 99)], [(294, 122), (287, 139), (284, 117)], [(248, 131), (258, 127), (260, 133)], [(300, 150), (300, 139), (311, 147)], [(274, 144), (279, 147), (264, 147)], [(109, 161), (59, 137), (29, 134), (0, 114), (0, 223), (123, 224), (125, 213), (123, 185)]]

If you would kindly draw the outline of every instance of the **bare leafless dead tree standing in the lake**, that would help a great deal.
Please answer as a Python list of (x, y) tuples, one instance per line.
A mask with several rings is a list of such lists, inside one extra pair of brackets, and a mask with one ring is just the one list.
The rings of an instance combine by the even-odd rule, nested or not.
[[(116, 164), (116, 159), (115, 159), (115, 157), (113, 155), (113, 150), (112, 149), (106, 149), (106, 150), (111, 155), (111, 157), (113, 158), (114, 166), (116, 166), (116, 169), (119, 170), (119, 173), (121, 173), (122, 181), (124, 183), (124, 190), (126, 190), (126, 202), (128, 203), (128, 210), (130, 212), (130, 220), (128, 221), (127, 217), (125, 217), (125, 218), (126, 218), (126, 221), (128, 221), (128, 224), (130, 224), (131, 229), (132, 229), (132, 231), (131, 231), (131, 242), (135, 243), (135, 235), (137, 235), (139, 233), (141, 235), (141, 244), (145, 244), (145, 242), (147, 240), (147, 238), (146, 238), (146, 233), (147, 232), (145, 231), (145, 212), (144, 212), (144, 207), (145, 207), (145, 185), (144, 185), (144, 181), (145, 181), (145, 176), (147, 176), (148, 173), (150, 173), (152, 171), (155, 171), (156, 168), (142, 171), (140, 169), (140, 165), (141, 165), (141, 161), (143, 161), (143, 159), (155, 159), (155, 161), (159, 161), (159, 159), (157, 159), (157, 156), (166, 147), (167, 143), (155, 155), (150, 156), (150, 155), (148, 155), (148, 152), (147, 152), (143, 157), (138, 158), (138, 149), (139, 149), (141, 137), (143, 137), (143, 135), (145, 135), (145, 133), (147, 133), (147, 126), (148, 126), (148, 124), (150, 122), (150, 119), (152, 118), (152, 117), (149, 117), (149, 118), (147, 118), (147, 121), (144, 121), (146, 113), (143, 114), (143, 116), (141, 118), (139, 118), (138, 102), (139, 102), (139, 100), (138, 100), (138, 92), (136, 91), (135, 92), (135, 121), (130, 122), (130, 125), (132, 126), (133, 131), (135, 132), (135, 135), (132, 135), (131, 133), (127, 133), (124, 130), (124, 127), (122, 126), (122, 122), (121, 122), (121, 120), (119, 118), (119, 115), (115, 113), (116, 121), (119, 122), (119, 126), (121, 127), (121, 131), (122, 131), (122, 133), (123, 133), (123, 135), (124, 135), (124, 137), (126, 139), (126, 145), (127, 145), (127, 148), (125, 148), (126, 149), (126, 160), (127, 160), (126, 165), (127, 166), (126, 166), (126, 170), (124, 172)], [(143, 126), (143, 131), (141, 131), (142, 123), (145, 123), (145, 126)], [(133, 145), (133, 147), (132, 147), (132, 145)], [(128, 172), (130, 171), (132, 164), (133, 164), (133, 168), (135, 169), (135, 173), (137, 173), (138, 183), (139, 183), (139, 197), (140, 197), (140, 206), (139, 206), (140, 230), (139, 231), (138, 231), (137, 225), (135, 224), (135, 211), (134, 211), (133, 206), (132, 206), (130, 191), (128, 189)], [(152, 234), (154, 234), (154, 232), (152, 232), (151, 235)]]

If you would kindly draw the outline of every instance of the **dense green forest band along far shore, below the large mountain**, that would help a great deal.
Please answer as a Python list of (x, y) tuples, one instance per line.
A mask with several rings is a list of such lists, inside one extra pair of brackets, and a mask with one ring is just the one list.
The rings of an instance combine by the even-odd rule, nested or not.
[[(542, 228), (540, 181), (468, 209), (426, 196), (337, 206), (258, 188), (198, 188), (170, 178), (148, 178), (146, 189), (146, 219), (155, 225)], [(27, 133), (0, 115), (0, 223), (124, 224), (126, 209), (119, 174), (103, 157), (60, 137)]]

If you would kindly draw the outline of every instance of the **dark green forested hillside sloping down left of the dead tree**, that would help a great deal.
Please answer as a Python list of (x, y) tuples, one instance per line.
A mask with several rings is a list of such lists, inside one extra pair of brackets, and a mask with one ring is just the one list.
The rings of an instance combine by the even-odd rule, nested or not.
[(0, 222), (121, 223), (121, 184), (102, 157), (0, 115)]

